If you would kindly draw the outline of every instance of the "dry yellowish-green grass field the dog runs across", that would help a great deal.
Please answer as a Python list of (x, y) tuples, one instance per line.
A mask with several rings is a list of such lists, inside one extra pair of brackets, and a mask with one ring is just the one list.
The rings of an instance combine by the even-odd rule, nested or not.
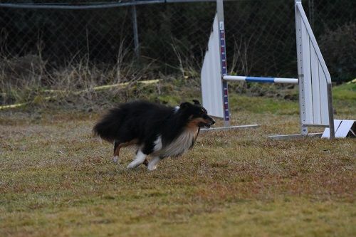
[[(190, 96), (199, 98), (199, 92)], [(355, 119), (356, 89), (334, 89)], [(356, 236), (356, 139), (299, 132), (298, 102), (231, 93), (234, 124), (155, 172), (92, 137), (98, 112), (0, 111), (0, 236)]]

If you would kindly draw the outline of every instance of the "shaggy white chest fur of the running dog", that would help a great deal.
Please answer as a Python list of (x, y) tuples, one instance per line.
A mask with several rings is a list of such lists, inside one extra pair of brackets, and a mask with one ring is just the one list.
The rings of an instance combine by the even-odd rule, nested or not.
[(162, 145), (162, 137), (159, 136), (155, 140), (155, 148), (152, 155), (157, 157), (176, 157), (187, 152), (192, 146), (197, 132), (197, 130), (185, 130), (179, 137), (164, 147)]

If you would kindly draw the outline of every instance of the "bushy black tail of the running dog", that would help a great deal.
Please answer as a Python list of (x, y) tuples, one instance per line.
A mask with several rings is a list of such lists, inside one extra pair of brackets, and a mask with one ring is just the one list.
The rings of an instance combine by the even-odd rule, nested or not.
[(103, 116), (99, 122), (93, 127), (94, 135), (105, 139), (108, 142), (113, 142), (119, 133), (120, 124), (124, 120), (124, 115), (119, 107), (110, 110)]

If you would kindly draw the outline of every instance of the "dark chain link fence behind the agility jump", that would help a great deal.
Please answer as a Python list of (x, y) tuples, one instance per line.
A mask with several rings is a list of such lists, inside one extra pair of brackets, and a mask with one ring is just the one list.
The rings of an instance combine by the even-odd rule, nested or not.
[[(0, 1), (1, 58), (35, 55), (61, 67), (83, 58), (115, 64), (125, 56), (164, 74), (199, 70), (216, 8), (214, 1), (194, 0), (22, 3)], [(303, 6), (333, 79), (355, 78), (356, 1), (305, 0)], [(229, 70), (295, 76), (293, 0), (224, 1), (224, 11)]]

